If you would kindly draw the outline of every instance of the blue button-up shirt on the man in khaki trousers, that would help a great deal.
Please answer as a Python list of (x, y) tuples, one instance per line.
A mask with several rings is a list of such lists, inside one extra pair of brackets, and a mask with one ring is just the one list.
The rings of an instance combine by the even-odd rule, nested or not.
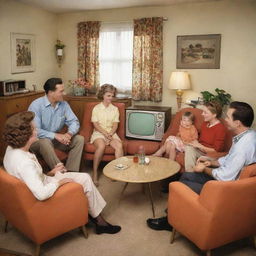
[(76, 134), (80, 128), (77, 117), (66, 101), (60, 101), (53, 107), (45, 95), (34, 100), (28, 110), (35, 113), (34, 121), (38, 138), (53, 140), (55, 133), (60, 131), (64, 125), (68, 127), (68, 132), (72, 135)]

